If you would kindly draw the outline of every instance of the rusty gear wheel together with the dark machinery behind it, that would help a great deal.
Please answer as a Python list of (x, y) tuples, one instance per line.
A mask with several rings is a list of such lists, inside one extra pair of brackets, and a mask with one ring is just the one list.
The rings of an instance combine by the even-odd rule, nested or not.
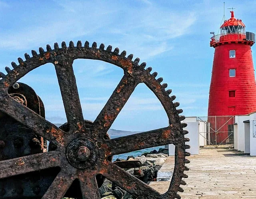
[[(157, 73), (140, 59), (132, 61), (133, 55), (112, 51), (112, 46), (97, 48), (96, 42), (77, 46), (71, 41), (69, 47), (62, 42), (62, 48), (49, 45), (47, 51), (39, 48), (39, 54), (32, 50), (32, 57), (25, 54), (26, 61), (18, 58), (19, 65), (12, 62), (7, 75), (0, 73), (0, 198), (2, 199), (99, 199), (98, 187), (104, 177), (128, 191), (138, 199), (180, 198), (180, 185), (186, 183), (182, 178), (189, 163), (185, 151), (190, 146), (184, 135), (184, 116), (175, 96), (169, 97), (171, 90), (165, 90), (163, 79), (156, 79)], [(112, 96), (94, 122), (84, 120), (76, 79), (72, 64), (75, 59), (102, 60), (124, 70), (124, 76)], [(44, 119), (42, 101), (32, 88), (17, 81), (31, 70), (46, 63), (55, 66), (58, 83), (64, 102), (68, 122), (56, 127)], [(170, 125), (161, 129), (108, 139), (106, 133), (122, 107), (140, 83), (146, 84), (162, 103)], [(30, 92), (28, 92), (30, 91)], [(35, 101), (33, 101), (35, 100)], [(31, 103), (31, 101), (33, 101)], [(45, 141), (50, 141), (46, 152)], [(130, 175), (111, 162), (112, 155), (127, 153), (154, 146), (173, 143), (175, 148), (175, 167), (169, 190), (160, 194), (136, 177)], [(104, 177), (103, 177), (104, 176)]]

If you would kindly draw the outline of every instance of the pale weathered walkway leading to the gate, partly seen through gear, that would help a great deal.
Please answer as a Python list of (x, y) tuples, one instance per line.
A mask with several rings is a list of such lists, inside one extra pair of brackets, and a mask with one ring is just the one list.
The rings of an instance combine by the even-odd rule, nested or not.
[[(200, 155), (188, 157), (190, 168), (182, 199), (256, 198), (256, 157), (231, 149), (200, 149)], [(169, 156), (161, 170), (173, 171), (174, 157)], [(170, 181), (151, 182), (165, 193)]]

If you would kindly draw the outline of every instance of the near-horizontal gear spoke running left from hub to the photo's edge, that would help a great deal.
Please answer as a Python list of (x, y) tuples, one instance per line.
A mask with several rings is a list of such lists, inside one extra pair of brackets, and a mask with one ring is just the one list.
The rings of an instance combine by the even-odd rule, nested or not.
[(4, 172), (0, 172), (0, 179), (58, 166), (60, 158), (57, 151), (3, 160), (0, 161), (0, 168)]

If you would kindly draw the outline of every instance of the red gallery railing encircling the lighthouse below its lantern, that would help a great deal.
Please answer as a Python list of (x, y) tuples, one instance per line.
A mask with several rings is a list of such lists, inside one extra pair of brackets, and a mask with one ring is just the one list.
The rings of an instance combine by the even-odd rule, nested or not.
[(216, 44), (218, 42), (229, 42), (229, 41), (250, 41), (255, 43), (255, 34), (252, 32), (246, 33), (228, 33), (228, 34), (218, 34), (211, 38), (210, 45)]

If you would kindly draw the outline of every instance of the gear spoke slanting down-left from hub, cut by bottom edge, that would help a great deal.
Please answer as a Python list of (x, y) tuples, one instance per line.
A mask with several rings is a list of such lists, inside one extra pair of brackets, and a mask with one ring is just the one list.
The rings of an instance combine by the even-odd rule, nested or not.
[(62, 199), (73, 181), (73, 177), (60, 171), (42, 199)]

